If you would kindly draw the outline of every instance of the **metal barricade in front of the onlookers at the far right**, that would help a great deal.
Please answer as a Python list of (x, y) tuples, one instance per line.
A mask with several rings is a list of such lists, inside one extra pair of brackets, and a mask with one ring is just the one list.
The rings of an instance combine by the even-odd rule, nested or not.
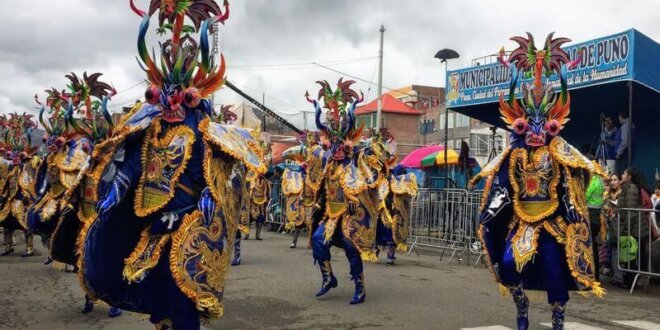
[[(616, 221), (616, 255), (617, 267), (624, 273), (635, 274), (630, 294), (642, 277), (660, 277), (660, 239), (653, 240), (652, 226), (656, 226), (656, 217), (660, 214), (652, 209), (621, 209)], [(655, 220), (655, 221), (654, 221)], [(646, 223), (647, 228), (642, 228)], [(646, 230), (644, 230), (646, 229)], [(612, 233), (613, 231), (610, 231)], [(621, 238), (632, 236), (637, 245), (636, 258), (621, 262)], [(628, 239), (630, 242), (631, 240)], [(628, 258), (626, 258), (628, 259)], [(614, 260), (613, 260), (614, 261)]]

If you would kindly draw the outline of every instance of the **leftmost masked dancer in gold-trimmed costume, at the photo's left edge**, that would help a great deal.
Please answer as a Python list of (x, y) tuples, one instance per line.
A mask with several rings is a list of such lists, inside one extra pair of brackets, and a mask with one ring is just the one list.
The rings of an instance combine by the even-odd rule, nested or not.
[(41, 159), (32, 145), (32, 130), (37, 123), (32, 115), (10, 113), (0, 117), (2, 141), (0, 152), (8, 164), (2, 165), (0, 178), (0, 226), (4, 228), (5, 248), (0, 256), (14, 252), (14, 232), (25, 232), (26, 250), (23, 257), (34, 255), (33, 235), (26, 217), (27, 207), (35, 200), (35, 176)]

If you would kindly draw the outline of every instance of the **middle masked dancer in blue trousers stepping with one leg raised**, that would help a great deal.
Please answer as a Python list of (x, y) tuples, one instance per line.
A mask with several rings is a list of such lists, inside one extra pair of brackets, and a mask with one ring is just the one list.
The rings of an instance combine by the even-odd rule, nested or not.
[[(330, 246), (334, 245), (346, 253), (355, 282), (350, 303), (359, 304), (366, 299), (362, 260), (378, 260), (376, 229), (383, 205), (378, 185), (383, 180), (377, 171), (369, 169), (369, 164), (373, 165), (370, 159), (378, 158), (379, 153), (376, 148), (359, 145), (364, 127), (356, 125), (355, 107), (363, 98), (350, 88), (354, 82), (340, 79), (334, 91), (326, 81), (318, 83), (318, 100), (311, 100), (307, 94), (316, 110), (322, 146), (307, 160), (307, 177), (315, 180), (317, 188), (312, 249), (322, 284), (316, 296), (325, 295), (338, 284), (330, 263)], [(327, 110), (325, 124), (321, 122), (323, 108)]]

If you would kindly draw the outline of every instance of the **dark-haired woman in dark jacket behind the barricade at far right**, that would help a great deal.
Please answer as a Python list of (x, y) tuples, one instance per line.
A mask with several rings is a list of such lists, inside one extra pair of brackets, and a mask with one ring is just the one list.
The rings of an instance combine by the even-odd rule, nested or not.
[[(629, 168), (621, 176), (621, 195), (619, 198), (619, 209), (651, 208), (650, 196), (645, 189), (644, 179), (638, 169)], [(648, 201), (647, 201), (648, 199)], [(619, 224), (619, 235), (632, 236), (639, 247), (636, 264), (631, 262), (629, 267), (639, 270), (648, 270), (648, 248), (649, 248), (649, 226), (648, 217), (640, 212), (624, 212), (621, 214)], [(637, 284), (646, 287), (649, 284), (648, 276), (640, 276)]]

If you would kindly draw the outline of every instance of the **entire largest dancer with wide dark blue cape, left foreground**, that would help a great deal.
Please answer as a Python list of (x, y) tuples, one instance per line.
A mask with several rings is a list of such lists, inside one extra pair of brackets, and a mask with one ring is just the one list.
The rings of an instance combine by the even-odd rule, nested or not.
[[(211, 121), (207, 99), (224, 82), (210, 58), (209, 29), (224, 23), (212, 0), (152, 0), (138, 49), (151, 84), (146, 104), (95, 146), (96, 217), (81, 236), (88, 295), (150, 315), (158, 329), (199, 329), (223, 314), (234, 235), (247, 202), (246, 170), (262, 174), (260, 145), (246, 129)], [(145, 37), (158, 13), (160, 60)], [(191, 25), (186, 25), (186, 19)], [(199, 42), (193, 36), (199, 33)], [(158, 64), (157, 64), (158, 63)]]

